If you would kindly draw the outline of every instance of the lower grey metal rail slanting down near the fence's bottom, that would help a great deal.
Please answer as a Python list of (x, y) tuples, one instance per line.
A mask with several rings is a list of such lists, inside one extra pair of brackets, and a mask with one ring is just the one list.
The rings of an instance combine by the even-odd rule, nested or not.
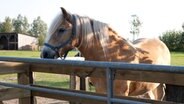
[(118, 104), (146, 104), (144, 102), (138, 102), (138, 101), (124, 100), (124, 99), (118, 99), (118, 98), (108, 99), (108, 97), (95, 96), (95, 95), (89, 95), (89, 94), (80, 94), (80, 93), (75, 93), (75, 92), (67, 92), (67, 91), (54, 90), (54, 89), (48, 89), (48, 88), (40, 88), (40, 87), (34, 87), (34, 86), (29, 86), (29, 85), (11, 84), (11, 83), (3, 83), (3, 82), (0, 82), (0, 85), (21, 88), (21, 89), (26, 89), (26, 90), (32, 90), (32, 91), (46, 92), (46, 93), (57, 94), (57, 95), (82, 97), (84, 99), (86, 98), (86, 99), (99, 100), (99, 101), (111, 100), (110, 103), (108, 104), (111, 104), (111, 102), (118, 103)]

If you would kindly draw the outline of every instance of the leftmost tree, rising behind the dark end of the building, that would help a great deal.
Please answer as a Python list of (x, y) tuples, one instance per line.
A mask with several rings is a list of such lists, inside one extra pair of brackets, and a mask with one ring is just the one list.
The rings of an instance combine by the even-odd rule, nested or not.
[(5, 21), (0, 24), (1, 32), (13, 32), (12, 20), (10, 17), (5, 17)]

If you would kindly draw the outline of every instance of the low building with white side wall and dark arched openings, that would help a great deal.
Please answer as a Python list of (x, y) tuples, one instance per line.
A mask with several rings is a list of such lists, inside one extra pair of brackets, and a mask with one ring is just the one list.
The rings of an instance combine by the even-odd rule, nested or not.
[(0, 50), (36, 50), (37, 38), (17, 34), (0, 33)]

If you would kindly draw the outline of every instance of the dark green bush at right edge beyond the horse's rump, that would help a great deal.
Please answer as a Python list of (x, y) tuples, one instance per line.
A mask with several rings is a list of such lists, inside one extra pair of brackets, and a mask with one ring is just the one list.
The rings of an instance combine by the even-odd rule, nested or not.
[(167, 31), (159, 38), (171, 51), (184, 50), (184, 33), (181, 31)]

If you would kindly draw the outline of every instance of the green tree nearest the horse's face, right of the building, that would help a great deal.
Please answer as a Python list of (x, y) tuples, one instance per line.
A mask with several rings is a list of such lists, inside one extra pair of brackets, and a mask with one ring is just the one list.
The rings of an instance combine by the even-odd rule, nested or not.
[(43, 45), (47, 33), (47, 24), (41, 20), (40, 16), (33, 20), (29, 33), (32, 34), (32, 36), (38, 37), (39, 46)]

